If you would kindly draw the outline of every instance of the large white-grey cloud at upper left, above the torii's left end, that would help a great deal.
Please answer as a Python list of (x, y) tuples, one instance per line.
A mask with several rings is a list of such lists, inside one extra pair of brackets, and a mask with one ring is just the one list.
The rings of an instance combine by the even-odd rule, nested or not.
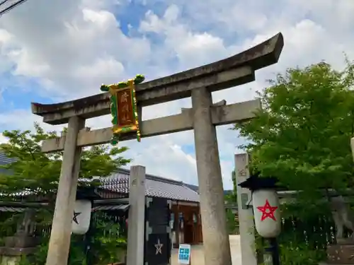
[(101, 83), (125, 78), (130, 66), (149, 59), (149, 42), (125, 36), (113, 13), (93, 9), (91, 1), (40, 2), (6, 14), (0, 28), (13, 36), (4, 40), (14, 47), (4, 54), (16, 66), (13, 74), (50, 81), (51, 95), (98, 93)]

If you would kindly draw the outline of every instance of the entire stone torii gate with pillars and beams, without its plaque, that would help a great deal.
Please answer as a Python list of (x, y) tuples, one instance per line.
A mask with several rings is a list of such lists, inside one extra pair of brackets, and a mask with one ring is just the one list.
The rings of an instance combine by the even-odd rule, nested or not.
[[(232, 105), (226, 105), (223, 100), (213, 105), (212, 92), (254, 81), (256, 70), (278, 62), (283, 45), (282, 34), (278, 33), (227, 59), (142, 83), (135, 88), (140, 119), (144, 106), (192, 98), (192, 108), (182, 109), (181, 114), (140, 121), (139, 124), (142, 138), (194, 130), (205, 265), (232, 264), (215, 126), (251, 119), (253, 112), (261, 107), (260, 100)], [(65, 135), (42, 143), (43, 152), (64, 151), (47, 254), (47, 265), (64, 265), (69, 252), (81, 148), (108, 143), (113, 136), (111, 128), (93, 131), (84, 128), (85, 119), (110, 114), (109, 94), (51, 105), (32, 103), (32, 112), (42, 116), (47, 124), (68, 123)], [(120, 141), (135, 137), (135, 133), (122, 134)]]

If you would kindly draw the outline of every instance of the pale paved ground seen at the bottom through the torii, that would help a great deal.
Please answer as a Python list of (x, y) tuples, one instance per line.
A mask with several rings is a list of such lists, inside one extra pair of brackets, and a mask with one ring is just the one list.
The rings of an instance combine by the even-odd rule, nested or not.
[[(230, 249), (232, 254), (232, 264), (241, 265), (240, 236), (230, 235)], [(204, 265), (204, 251), (202, 245), (192, 247), (192, 265)], [(178, 249), (172, 251), (172, 264), (178, 265)]]

